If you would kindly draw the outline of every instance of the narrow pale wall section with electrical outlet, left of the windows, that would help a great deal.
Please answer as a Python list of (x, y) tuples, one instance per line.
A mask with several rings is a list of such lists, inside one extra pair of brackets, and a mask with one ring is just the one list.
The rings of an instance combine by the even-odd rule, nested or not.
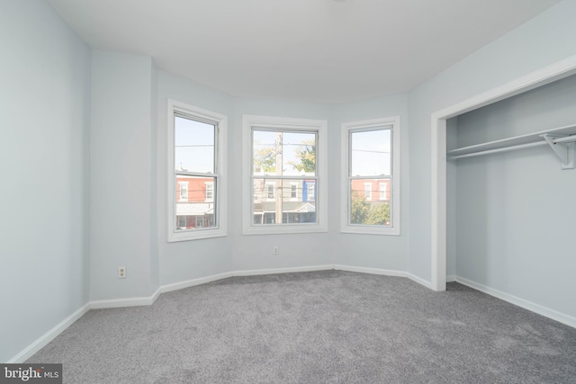
[[(147, 56), (94, 50), (90, 128), (90, 297), (157, 290), (152, 201), (155, 76)], [(118, 267), (127, 278), (118, 279)]]

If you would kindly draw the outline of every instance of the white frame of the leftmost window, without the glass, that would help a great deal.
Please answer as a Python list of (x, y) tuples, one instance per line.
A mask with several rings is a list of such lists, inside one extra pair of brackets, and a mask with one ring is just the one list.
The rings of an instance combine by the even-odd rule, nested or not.
[[(175, 177), (175, 114), (184, 114), (192, 120), (205, 121), (214, 124), (216, 127), (215, 134), (215, 156), (214, 156), (214, 174), (206, 174), (208, 177), (215, 177), (217, 185), (214, 193), (216, 201), (216, 227), (191, 228), (185, 230), (176, 230), (176, 177)], [(227, 225), (227, 137), (228, 137), (228, 117), (217, 112), (211, 112), (202, 108), (195, 107), (186, 103), (180, 103), (168, 99), (167, 103), (167, 242), (197, 240), (211, 237), (224, 237), (228, 235)]]

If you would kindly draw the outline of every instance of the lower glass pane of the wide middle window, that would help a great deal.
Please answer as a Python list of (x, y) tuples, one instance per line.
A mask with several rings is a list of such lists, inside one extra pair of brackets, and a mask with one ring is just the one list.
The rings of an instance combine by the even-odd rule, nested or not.
[(253, 224), (317, 222), (315, 179), (254, 179), (253, 183)]

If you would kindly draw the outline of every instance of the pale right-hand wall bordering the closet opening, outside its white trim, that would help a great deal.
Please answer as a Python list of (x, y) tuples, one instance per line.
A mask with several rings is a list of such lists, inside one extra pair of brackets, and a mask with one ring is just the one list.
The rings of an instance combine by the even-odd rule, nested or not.
[(409, 272), (431, 279), (431, 113), (576, 54), (573, 14), (563, 1), (410, 92)]

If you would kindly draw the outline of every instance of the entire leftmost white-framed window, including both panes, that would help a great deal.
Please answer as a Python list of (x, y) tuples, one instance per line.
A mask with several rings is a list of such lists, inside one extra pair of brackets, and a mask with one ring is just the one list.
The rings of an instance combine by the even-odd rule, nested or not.
[(227, 118), (168, 101), (168, 241), (226, 236)]

